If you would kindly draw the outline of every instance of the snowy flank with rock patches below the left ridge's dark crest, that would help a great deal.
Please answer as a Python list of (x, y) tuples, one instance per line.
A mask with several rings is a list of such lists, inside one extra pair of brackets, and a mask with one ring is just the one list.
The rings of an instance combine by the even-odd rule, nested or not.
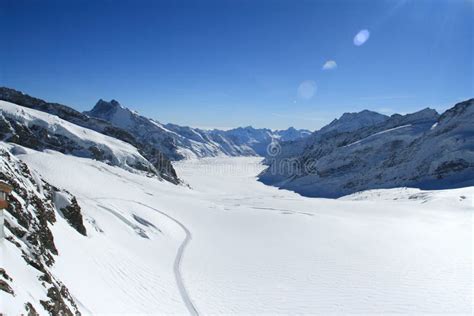
[(156, 173), (132, 145), (51, 114), (0, 101), (0, 125), (1, 138), (9, 142), (94, 158), (129, 171)]

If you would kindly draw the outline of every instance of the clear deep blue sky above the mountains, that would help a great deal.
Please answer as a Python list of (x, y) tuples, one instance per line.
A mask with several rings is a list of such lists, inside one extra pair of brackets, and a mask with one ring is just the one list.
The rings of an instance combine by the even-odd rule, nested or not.
[[(114, 98), (164, 123), (316, 129), (347, 111), (442, 110), (473, 97), (472, 0), (0, 9), (0, 85), (79, 110)], [(370, 36), (355, 45), (361, 30)]]

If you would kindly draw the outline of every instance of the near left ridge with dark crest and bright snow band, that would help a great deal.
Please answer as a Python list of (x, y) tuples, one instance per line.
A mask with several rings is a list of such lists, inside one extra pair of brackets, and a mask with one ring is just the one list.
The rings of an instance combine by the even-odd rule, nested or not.
[[(163, 153), (141, 143), (127, 131), (109, 122), (89, 117), (66, 105), (49, 103), (9, 88), (0, 87), (0, 100), (10, 102), (2, 103), (4, 107), (0, 109), (0, 139), (4, 141), (35, 149), (49, 148), (79, 156), (92, 156), (119, 166), (146, 170), (169, 182), (179, 183), (170, 160)], [(62, 125), (67, 128), (62, 128)], [(86, 134), (93, 135), (95, 139), (84, 142)], [(105, 143), (102, 140), (105, 140)], [(107, 143), (110, 142), (119, 145), (108, 146)], [(118, 157), (115, 152), (112, 153), (112, 148), (116, 149), (117, 146), (126, 147), (125, 151), (134, 152), (131, 156), (138, 158), (129, 159), (131, 156), (128, 155), (129, 158), (123, 161), (123, 155)]]

